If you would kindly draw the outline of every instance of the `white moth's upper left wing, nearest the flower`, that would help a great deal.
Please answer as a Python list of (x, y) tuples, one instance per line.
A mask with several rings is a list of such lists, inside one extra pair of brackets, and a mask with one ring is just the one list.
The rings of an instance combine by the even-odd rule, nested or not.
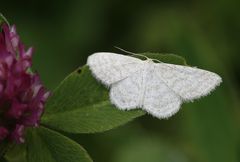
[(142, 62), (130, 56), (100, 52), (89, 56), (87, 65), (98, 80), (110, 86), (140, 70)]

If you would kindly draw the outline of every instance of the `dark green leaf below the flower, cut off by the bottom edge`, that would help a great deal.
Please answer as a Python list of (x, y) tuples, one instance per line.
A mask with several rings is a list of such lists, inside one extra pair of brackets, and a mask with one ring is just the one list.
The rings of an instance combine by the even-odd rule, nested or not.
[(48, 128), (27, 132), (27, 162), (92, 162), (76, 142)]

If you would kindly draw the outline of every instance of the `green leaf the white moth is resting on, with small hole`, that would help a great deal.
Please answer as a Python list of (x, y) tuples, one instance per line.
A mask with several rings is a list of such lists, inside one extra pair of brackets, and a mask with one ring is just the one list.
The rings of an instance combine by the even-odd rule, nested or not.
[[(145, 53), (149, 58), (186, 64), (172, 54)], [(144, 115), (141, 110), (121, 111), (114, 107), (106, 88), (91, 75), (87, 66), (70, 74), (54, 91), (46, 105), (42, 124), (69, 133), (110, 130)]]

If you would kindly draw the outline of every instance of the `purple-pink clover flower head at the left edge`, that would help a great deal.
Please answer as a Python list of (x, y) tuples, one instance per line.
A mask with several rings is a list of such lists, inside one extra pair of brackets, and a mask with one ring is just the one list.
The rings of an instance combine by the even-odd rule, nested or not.
[(37, 127), (49, 92), (30, 72), (33, 49), (25, 50), (15, 26), (0, 32), (0, 142), (24, 142), (26, 127)]

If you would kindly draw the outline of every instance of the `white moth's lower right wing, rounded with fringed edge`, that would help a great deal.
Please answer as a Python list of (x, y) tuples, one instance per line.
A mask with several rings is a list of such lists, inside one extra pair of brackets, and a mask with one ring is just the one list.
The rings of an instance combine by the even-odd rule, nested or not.
[(153, 66), (149, 70), (143, 109), (157, 118), (168, 118), (178, 112), (181, 98), (156, 75), (158, 69)]

